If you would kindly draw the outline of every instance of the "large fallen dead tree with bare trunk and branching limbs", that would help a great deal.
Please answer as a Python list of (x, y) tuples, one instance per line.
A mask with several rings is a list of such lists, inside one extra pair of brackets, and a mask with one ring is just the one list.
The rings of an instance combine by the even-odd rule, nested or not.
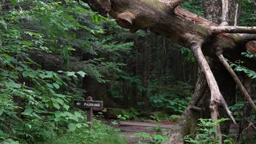
[[(205, 89), (203, 83), (208, 83), (210, 88), (210, 111), (213, 121), (218, 119), (218, 108), (222, 106), (234, 123), (235, 119), (228, 109), (226, 102), (220, 92), (216, 77), (214, 77), (206, 56), (213, 61), (223, 62), (224, 57), (228, 59), (240, 59), (240, 53), (246, 51), (246, 44), (256, 40), (256, 27), (235, 27), (228, 23), (228, 0), (222, 0), (222, 19), (220, 23), (213, 23), (182, 9), (179, 5), (185, 0), (84, 0), (89, 3), (92, 10), (107, 16), (110, 14), (123, 28), (130, 29), (135, 33), (138, 29), (147, 30), (163, 35), (174, 43), (188, 47), (193, 52), (203, 75), (199, 77), (192, 100), (187, 107), (187, 115), (183, 114), (181, 121), (176, 124), (177, 131), (170, 134), (170, 143), (183, 143), (184, 125), (187, 118), (191, 116), (191, 109), (201, 111), (204, 107), (196, 107), (201, 100)], [(219, 25), (218, 25), (219, 24)], [(249, 44), (248, 44), (249, 45)], [(254, 52), (256, 46), (250, 46), (249, 51)], [(247, 61), (245, 59), (244, 61)], [(228, 63), (223, 62), (226, 69), (236, 81), (242, 93), (245, 94), (249, 104), (256, 111), (255, 104), (242, 86), (239, 79)], [(255, 61), (246, 65), (253, 70), (256, 69)], [(204, 78), (206, 81), (204, 80)], [(222, 141), (219, 125), (216, 126), (216, 139)]]

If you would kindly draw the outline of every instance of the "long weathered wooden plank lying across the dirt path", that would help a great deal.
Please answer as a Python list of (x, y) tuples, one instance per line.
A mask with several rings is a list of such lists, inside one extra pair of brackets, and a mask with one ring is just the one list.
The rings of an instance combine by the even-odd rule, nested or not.
[[(158, 124), (155, 123), (144, 123), (144, 122), (121, 122), (120, 126), (127, 127), (127, 126), (139, 126), (139, 127), (159, 127)], [(173, 127), (172, 124), (160, 124), (161, 128), (171, 129)]]

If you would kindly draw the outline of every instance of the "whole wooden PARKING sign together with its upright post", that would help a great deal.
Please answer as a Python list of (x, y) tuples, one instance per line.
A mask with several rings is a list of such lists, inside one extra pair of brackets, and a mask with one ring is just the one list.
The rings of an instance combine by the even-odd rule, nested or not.
[(92, 100), (89, 96), (86, 100), (74, 100), (74, 106), (80, 109), (86, 109), (87, 112), (87, 122), (89, 123), (89, 128), (92, 128), (92, 109), (103, 109), (103, 101)]

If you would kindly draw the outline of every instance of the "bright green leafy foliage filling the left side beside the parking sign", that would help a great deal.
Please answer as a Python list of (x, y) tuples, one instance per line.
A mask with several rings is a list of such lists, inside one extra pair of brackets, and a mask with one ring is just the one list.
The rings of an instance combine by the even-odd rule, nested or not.
[(36, 143), (61, 127), (88, 127), (84, 113), (72, 108), (84, 92), (79, 81), (89, 75), (104, 82), (103, 74), (120, 64), (102, 58), (79, 62), (75, 55), (122, 51), (112, 49), (114, 43), (100, 47), (107, 40), (96, 37), (103, 33), (97, 23), (108, 20), (74, 1), (3, 1), (0, 13), (1, 141)]

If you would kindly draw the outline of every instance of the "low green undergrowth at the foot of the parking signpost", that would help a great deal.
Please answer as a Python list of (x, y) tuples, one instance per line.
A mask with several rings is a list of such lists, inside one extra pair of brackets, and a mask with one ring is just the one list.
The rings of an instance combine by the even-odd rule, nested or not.
[(61, 128), (57, 131), (57, 135), (50, 137), (50, 139), (40, 142), (39, 144), (69, 144), (69, 143), (104, 143), (112, 144), (127, 143), (127, 139), (123, 135), (114, 132), (113, 128), (107, 126), (101, 121), (94, 120), (93, 128), (77, 129), (75, 131), (67, 131)]

